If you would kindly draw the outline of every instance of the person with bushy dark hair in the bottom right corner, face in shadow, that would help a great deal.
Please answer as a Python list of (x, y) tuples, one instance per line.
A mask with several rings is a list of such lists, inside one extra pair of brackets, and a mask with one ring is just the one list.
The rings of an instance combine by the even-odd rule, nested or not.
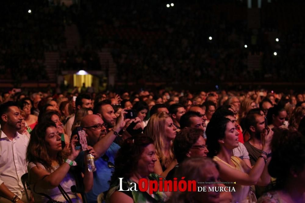
[(305, 202), (305, 137), (298, 131), (277, 129), (271, 141), (269, 174), (276, 178), (275, 190), (258, 203)]

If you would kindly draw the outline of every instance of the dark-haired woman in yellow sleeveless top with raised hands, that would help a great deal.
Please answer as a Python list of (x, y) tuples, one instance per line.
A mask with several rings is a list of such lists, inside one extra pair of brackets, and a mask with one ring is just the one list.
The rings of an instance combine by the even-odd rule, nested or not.
[(219, 165), (221, 180), (236, 182), (236, 184), (226, 184), (226, 186), (232, 186), (236, 190), (232, 193), (233, 202), (246, 203), (250, 198), (256, 200), (250, 186), (266, 186), (271, 180), (267, 166), (271, 159), (269, 145), (273, 131), (268, 130), (269, 133), (265, 129), (264, 133), (261, 134), (263, 150), (251, 169), (241, 158), (232, 156), (233, 149), (239, 146), (239, 133), (230, 119), (212, 119), (206, 127), (208, 156)]

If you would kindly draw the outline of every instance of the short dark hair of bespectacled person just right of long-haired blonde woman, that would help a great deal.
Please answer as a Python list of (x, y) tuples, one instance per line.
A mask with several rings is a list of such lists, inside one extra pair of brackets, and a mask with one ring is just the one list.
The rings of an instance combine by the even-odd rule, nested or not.
[(203, 137), (204, 131), (200, 128), (187, 128), (180, 130), (174, 139), (174, 154), (178, 163), (187, 158), (187, 153), (197, 142), (200, 136)]

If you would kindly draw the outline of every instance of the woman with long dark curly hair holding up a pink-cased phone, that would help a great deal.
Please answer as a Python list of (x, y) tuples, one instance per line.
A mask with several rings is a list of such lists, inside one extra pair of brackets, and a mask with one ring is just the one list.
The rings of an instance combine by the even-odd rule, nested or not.
[[(53, 200), (66, 202), (66, 198), (59, 190), (59, 185), (66, 191), (72, 202), (82, 202), (77, 194), (71, 191), (75, 180), (69, 173), (70, 166), (76, 164), (74, 159), (80, 152), (75, 149), (76, 142), (75, 138), (71, 140), (70, 153), (63, 150), (56, 125), (50, 121), (39, 123), (31, 132), (26, 160), (28, 162), (28, 182), (35, 202), (47, 202), (49, 199), (45, 195)], [(95, 154), (93, 148), (89, 146), (87, 152)], [(85, 192), (90, 191), (92, 185), (93, 173), (86, 170), (84, 172)]]

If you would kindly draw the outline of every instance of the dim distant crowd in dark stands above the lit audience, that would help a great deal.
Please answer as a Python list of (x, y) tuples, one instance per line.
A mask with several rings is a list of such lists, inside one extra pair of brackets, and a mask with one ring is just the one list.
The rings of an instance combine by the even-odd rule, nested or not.
[[(106, 70), (98, 58), (102, 48), (109, 48), (117, 72), (124, 73), (117, 75), (118, 82), (303, 78), (304, 14), (298, 2), (263, 1), (259, 29), (247, 28), (247, 5), (240, 1), (178, 1), (170, 8), (162, 1), (3, 6), (0, 71), (6, 79), (47, 79), (48, 51), (59, 52), (60, 70)], [(65, 26), (71, 24), (81, 41), (68, 50)], [(248, 66), (248, 55), (260, 56), (260, 68)]]

